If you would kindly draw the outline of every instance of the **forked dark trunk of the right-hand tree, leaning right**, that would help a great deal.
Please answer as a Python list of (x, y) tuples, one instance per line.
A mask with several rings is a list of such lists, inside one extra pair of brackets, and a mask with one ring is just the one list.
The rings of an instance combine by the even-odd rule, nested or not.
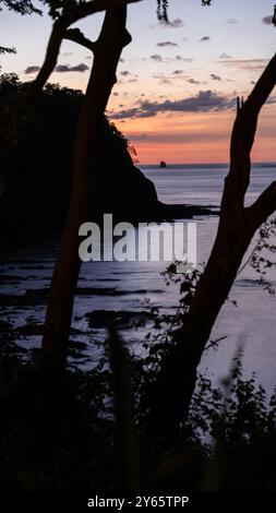
[(244, 207), (250, 182), (250, 152), (260, 110), (276, 83), (272, 59), (248, 100), (240, 106), (231, 138), (230, 171), (225, 180), (216, 240), (184, 321), (182, 339), (163, 363), (149, 398), (148, 432), (173, 438), (189, 413), (196, 368), (212, 327), (228, 297), (255, 230), (276, 208), (276, 182), (256, 202)]

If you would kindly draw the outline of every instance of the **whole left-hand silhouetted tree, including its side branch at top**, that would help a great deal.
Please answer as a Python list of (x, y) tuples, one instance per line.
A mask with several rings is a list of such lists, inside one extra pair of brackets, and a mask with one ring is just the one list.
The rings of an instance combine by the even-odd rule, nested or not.
[[(89, 41), (79, 29), (68, 29), (76, 20), (85, 17), (95, 9), (134, 3), (140, 0), (47, 1), (50, 14), (57, 21), (47, 49), (45, 63), (34, 87), (41, 87), (57, 62), (61, 40), (70, 38), (83, 44), (94, 52), (94, 64), (85, 102), (81, 111), (75, 141), (75, 171), (67, 224), (52, 276), (43, 338), (43, 359), (46, 369), (59, 374), (65, 368), (65, 351), (72, 320), (74, 290), (80, 273), (79, 228), (87, 219), (97, 189), (97, 169), (93, 162), (97, 127), (113, 84), (122, 48), (131, 40), (125, 29), (125, 8), (108, 10), (101, 34), (96, 43)], [(158, 17), (167, 21), (167, 0), (157, 1)], [(99, 85), (100, 84), (100, 87)], [(94, 213), (95, 214), (95, 213)]]

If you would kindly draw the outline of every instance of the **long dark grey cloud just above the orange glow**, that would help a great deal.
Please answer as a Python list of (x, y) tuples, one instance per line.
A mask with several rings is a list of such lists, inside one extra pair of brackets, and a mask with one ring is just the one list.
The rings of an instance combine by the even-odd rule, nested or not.
[(158, 112), (215, 112), (230, 109), (233, 105), (233, 99), (208, 90), (184, 99), (167, 99), (161, 103), (143, 100), (137, 107), (113, 112), (112, 118), (152, 118)]

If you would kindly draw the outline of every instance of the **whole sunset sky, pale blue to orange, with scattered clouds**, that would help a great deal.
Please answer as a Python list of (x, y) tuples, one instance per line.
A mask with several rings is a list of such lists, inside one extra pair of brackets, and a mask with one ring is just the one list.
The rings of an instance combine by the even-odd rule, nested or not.
[[(36, 2), (39, 3), (39, 2)], [(228, 163), (236, 98), (250, 94), (276, 49), (273, 0), (170, 0), (169, 24), (156, 16), (156, 0), (128, 8), (132, 43), (123, 50), (107, 107), (111, 121), (137, 151), (141, 164)], [(96, 39), (103, 14), (76, 26)], [(51, 20), (0, 13), (2, 72), (35, 77)], [(93, 64), (88, 50), (64, 41), (50, 82), (85, 91)], [(99, 84), (100, 86), (100, 84)], [(275, 105), (274, 105), (275, 104)], [(276, 162), (276, 93), (260, 116), (252, 159)]]

